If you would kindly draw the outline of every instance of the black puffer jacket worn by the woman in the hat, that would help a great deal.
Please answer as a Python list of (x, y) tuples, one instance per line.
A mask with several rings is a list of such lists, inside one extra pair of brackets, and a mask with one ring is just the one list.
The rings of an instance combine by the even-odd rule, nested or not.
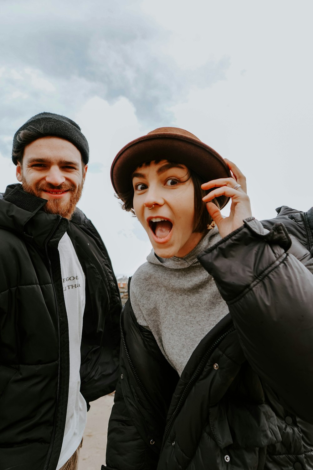
[[(280, 217), (309, 265), (312, 210)], [(179, 379), (126, 304), (102, 470), (313, 469), (313, 275), (284, 226), (264, 225), (200, 254), (230, 314)]]

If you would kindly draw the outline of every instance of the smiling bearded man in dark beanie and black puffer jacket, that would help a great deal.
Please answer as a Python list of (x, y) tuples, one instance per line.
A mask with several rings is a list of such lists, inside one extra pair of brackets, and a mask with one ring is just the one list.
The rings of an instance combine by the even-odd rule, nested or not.
[(115, 390), (120, 295), (76, 204), (89, 147), (40, 113), (15, 133), (0, 199), (0, 470), (76, 469), (89, 401)]

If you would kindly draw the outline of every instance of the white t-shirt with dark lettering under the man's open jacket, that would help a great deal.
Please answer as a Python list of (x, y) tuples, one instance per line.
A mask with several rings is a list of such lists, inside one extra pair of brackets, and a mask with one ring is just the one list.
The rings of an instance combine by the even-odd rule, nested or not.
[(58, 246), (66, 313), (69, 323), (69, 399), (65, 430), (57, 469), (74, 454), (86, 426), (87, 405), (80, 393), (80, 345), (85, 308), (85, 275), (69, 235)]

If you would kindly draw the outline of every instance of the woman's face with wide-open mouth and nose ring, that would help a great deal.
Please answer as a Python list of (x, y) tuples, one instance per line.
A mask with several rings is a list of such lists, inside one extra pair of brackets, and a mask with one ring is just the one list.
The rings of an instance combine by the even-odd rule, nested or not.
[[(132, 175), (134, 211), (161, 258), (183, 258), (203, 234), (194, 233), (194, 189), (183, 164), (161, 160)], [(152, 207), (152, 209), (149, 209)]]

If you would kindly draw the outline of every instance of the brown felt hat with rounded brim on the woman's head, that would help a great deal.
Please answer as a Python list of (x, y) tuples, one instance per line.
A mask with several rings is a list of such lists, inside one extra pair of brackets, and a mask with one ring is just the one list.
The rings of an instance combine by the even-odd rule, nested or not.
[[(111, 166), (111, 181), (116, 194), (127, 194), (132, 188), (131, 175), (134, 170), (152, 160), (182, 163), (204, 181), (231, 176), (221, 155), (191, 132), (179, 127), (159, 127), (131, 141), (116, 155)], [(217, 200), (222, 208), (229, 198), (220, 196)]]

